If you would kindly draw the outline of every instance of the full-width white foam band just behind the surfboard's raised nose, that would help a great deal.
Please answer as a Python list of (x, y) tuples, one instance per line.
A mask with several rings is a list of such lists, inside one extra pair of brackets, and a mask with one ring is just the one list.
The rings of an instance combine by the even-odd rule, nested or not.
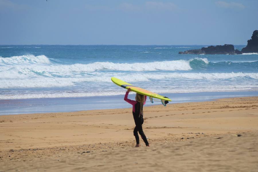
[[(26, 75), (24, 75), (26, 77)], [(28, 88), (28, 87), (67, 87), (81, 83), (111, 83), (110, 78), (114, 76), (126, 82), (144, 82), (162, 80), (169, 83), (176, 80), (217, 80), (217, 79), (241, 79), (250, 77), (258, 79), (258, 73), (95, 73), (94, 75), (71, 75), (70, 77), (52, 77), (49, 75), (38, 77), (27, 77), (24, 79), (1, 79), (0, 88)]]

